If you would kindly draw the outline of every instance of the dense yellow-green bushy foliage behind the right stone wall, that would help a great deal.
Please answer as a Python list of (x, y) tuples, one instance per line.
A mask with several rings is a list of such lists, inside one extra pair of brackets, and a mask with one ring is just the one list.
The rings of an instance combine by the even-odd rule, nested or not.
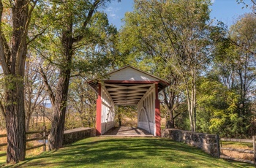
[(249, 123), (239, 110), (240, 96), (217, 80), (202, 78), (197, 109), (197, 131), (221, 137), (246, 137)]

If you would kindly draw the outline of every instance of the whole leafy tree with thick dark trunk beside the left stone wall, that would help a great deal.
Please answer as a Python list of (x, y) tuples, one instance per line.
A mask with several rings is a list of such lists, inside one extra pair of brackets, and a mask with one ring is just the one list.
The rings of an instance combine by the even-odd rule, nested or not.
[[(64, 122), (67, 109), (67, 96), (69, 79), (72, 69), (83, 65), (83, 72), (93, 72), (99, 67), (102, 42), (105, 42), (105, 32), (108, 31), (107, 17), (102, 12), (96, 12), (99, 7), (104, 7), (110, 0), (94, 1), (53, 1), (48, 10), (49, 20), (54, 20), (48, 32), (51, 45), (58, 50), (51, 50), (52, 56), (46, 57), (48, 61), (59, 68), (56, 92), (47, 83), (47, 77), (41, 71), (45, 87), (48, 88), (51, 103), (53, 104), (53, 120), (51, 124), (49, 149), (58, 149), (63, 142)], [(48, 2), (46, 4), (48, 6)], [(56, 15), (58, 14), (58, 15)], [(104, 51), (104, 50), (103, 50)], [(89, 61), (74, 64), (74, 56), (78, 53), (88, 54)], [(98, 58), (97, 58), (98, 56)], [(91, 62), (90, 62), (91, 61)], [(92, 62), (98, 64), (91, 64)], [(97, 66), (96, 66), (97, 65)], [(80, 74), (81, 69), (78, 70)]]

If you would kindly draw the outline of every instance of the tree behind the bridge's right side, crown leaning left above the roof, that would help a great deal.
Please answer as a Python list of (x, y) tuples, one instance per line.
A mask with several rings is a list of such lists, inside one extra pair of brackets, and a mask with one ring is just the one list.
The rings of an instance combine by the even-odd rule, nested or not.
[[(135, 4), (139, 1), (135, 1)], [(150, 29), (151, 23), (145, 16), (146, 13), (140, 13), (135, 5), (135, 12), (126, 14), (125, 26), (121, 29), (119, 38), (121, 44), (119, 45), (122, 53), (127, 54), (126, 57), (129, 64), (138, 66), (146, 72), (151, 72), (154, 75), (168, 79), (170, 87), (163, 93), (162, 103), (167, 107), (165, 118), (166, 128), (174, 128), (173, 112), (178, 107), (178, 83), (181, 82), (180, 77), (173, 72), (173, 68), (163, 58), (162, 47), (159, 45), (159, 37), (154, 29)], [(148, 26), (148, 27), (147, 27)]]

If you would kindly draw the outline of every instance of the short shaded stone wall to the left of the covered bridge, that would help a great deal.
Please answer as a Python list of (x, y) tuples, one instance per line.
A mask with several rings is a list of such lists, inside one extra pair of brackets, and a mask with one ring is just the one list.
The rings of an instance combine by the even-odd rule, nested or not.
[(94, 128), (77, 128), (77, 129), (69, 129), (64, 131), (64, 140), (63, 145), (70, 144), (72, 142), (76, 142), (78, 140), (83, 140), (86, 137), (95, 137), (96, 131)]

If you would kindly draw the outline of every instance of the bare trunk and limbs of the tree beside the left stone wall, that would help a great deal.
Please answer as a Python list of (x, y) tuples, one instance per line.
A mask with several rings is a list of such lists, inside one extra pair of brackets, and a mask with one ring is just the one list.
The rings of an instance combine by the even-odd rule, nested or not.
[[(81, 28), (87, 28), (91, 17), (94, 15), (95, 9), (97, 9), (98, 5), (104, 3), (102, 0), (94, 0), (91, 4), (91, 7), (88, 11), (86, 18), (84, 18), (84, 23)], [(90, 4), (90, 3), (88, 3)], [(49, 140), (49, 150), (56, 150), (61, 148), (63, 142), (63, 134), (64, 134), (64, 123), (65, 123), (65, 115), (67, 110), (67, 93), (69, 90), (69, 78), (71, 73), (71, 65), (72, 65), (72, 56), (75, 48), (73, 48), (73, 43), (80, 42), (83, 38), (85, 38), (84, 34), (78, 34), (76, 37), (72, 37), (72, 28), (73, 28), (73, 20), (75, 15), (71, 6), (66, 6), (67, 13), (63, 20), (65, 22), (61, 25), (62, 29), (62, 37), (61, 37), (61, 47), (63, 49), (63, 53), (61, 56), (61, 69), (59, 75), (59, 82), (56, 88), (56, 95), (53, 95), (53, 92), (50, 91), (51, 102), (54, 102), (53, 107), (53, 120), (51, 123), (50, 134), (48, 137)], [(72, 12), (71, 12), (72, 11)], [(46, 77), (44, 77), (46, 79)], [(44, 81), (45, 85), (47, 85), (47, 80)], [(50, 87), (48, 87), (50, 88)]]

